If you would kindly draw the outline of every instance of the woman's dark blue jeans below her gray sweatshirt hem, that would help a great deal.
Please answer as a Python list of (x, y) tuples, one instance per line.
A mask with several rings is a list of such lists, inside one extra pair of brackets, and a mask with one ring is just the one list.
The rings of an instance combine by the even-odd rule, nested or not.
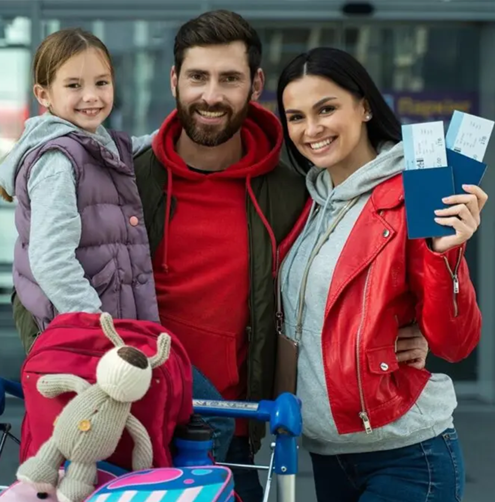
[(318, 502), (460, 502), (464, 494), (455, 429), (404, 448), (311, 459)]

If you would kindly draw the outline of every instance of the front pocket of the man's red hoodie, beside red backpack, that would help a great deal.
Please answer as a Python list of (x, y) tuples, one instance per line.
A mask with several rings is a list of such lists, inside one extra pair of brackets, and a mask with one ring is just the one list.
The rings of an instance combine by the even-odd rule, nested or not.
[(234, 333), (199, 327), (170, 315), (161, 324), (180, 340), (193, 366), (196, 366), (220, 394), (239, 383), (237, 337)]

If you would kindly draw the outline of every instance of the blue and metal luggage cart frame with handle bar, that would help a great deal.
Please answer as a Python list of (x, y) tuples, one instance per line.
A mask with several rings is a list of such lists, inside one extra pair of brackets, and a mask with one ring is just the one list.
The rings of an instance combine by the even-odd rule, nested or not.
[[(6, 406), (6, 396), (24, 399), (21, 384), (0, 377), (0, 417)], [(302, 433), (301, 402), (292, 394), (282, 394), (274, 401), (192, 401), (194, 413), (202, 416), (229, 417), (268, 422), (274, 440), (270, 443), (269, 465), (219, 463), (225, 467), (240, 467), (268, 472), (263, 502), (268, 501), (273, 474), (276, 474), (277, 502), (295, 502), (295, 476), (298, 472), (298, 438)], [(7, 438), (18, 445), (11, 433), (12, 425), (0, 422), (0, 458)], [(0, 485), (2, 490), (9, 486)]]

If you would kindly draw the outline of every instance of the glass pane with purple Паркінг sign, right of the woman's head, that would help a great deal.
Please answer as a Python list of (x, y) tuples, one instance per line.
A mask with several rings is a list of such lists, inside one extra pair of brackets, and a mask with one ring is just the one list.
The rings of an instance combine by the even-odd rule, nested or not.
[(479, 30), (474, 25), (348, 27), (345, 49), (370, 72), (403, 122), (479, 113)]

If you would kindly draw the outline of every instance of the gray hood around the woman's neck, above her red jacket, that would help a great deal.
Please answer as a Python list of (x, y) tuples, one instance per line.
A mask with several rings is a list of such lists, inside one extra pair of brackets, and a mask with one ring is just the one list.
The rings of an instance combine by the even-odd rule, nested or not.
[[(333, 187), (330, 174), (326, 169), (312, 167), (306, 176), (306, 186), (311, 197), (321, 206), (339, 206), (359, 195), (370, 192), (396, 174), (404, 170), (403, 144), (383, 143), (378, 155), (371, 162), (352, 173), (340, 185)], [(334, 203), (334, 204), (332, 204)]]

